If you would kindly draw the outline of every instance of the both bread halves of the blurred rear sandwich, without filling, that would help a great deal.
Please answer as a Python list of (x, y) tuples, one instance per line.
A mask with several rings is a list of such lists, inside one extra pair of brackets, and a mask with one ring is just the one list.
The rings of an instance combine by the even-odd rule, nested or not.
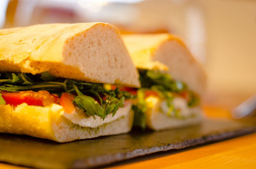
[[(170, 34), (127, 34), (124, 42), (137, 68), (168, 71), (173, 79), (185, 82), (189, 89), (202, 95), (205, 73), (184, 43)], [(179, 119), (159, 111), (161, 101), (146, 112), (147, 128), (173, 129), (198, 124), (202, 121), (200, 107), (188, 108), (195, 116)], [(180, 110), (182, 113), (183, 110)], [(184, 113), (184, 112), (183, 112)]]

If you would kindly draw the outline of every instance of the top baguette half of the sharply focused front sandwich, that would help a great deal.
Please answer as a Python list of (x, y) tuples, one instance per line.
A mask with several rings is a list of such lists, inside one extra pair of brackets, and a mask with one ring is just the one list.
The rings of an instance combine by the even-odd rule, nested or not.
[(1, 29), (0, 71), (140, 86), (120, 33), (96, 22)]

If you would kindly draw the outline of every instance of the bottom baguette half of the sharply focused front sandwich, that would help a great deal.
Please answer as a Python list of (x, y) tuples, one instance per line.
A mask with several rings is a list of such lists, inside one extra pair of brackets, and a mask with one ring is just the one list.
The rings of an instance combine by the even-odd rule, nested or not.
[[(130, 108), (131, 105), (129, 110)], [(133, 112), (130, 111), (113, 122), (89, 128), (68, 120), (63, 115), (65, 112), (60, 105), (36, 107), (22, 103), (15, 108), (10, 105), (0, 105), (0, 110), (0, 133), (29, 135), (56, 142), (127, 133), (131, 130), (133, 121)]]

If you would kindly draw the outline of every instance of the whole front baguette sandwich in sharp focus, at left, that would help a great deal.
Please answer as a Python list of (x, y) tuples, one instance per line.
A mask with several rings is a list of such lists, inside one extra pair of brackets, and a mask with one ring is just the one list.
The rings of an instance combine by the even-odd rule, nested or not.
[(0, 30), (0, 133), (56, 142), (131, 130), (140, 87), (120, 33), (99, 23)]

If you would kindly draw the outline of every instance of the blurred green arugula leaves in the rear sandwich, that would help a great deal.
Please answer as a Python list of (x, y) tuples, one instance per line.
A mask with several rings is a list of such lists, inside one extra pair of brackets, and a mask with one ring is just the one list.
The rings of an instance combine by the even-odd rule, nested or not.
[(186, 84), (179, 80), (173, 80), (168, 73), (155, 70), (139, 70), (141, 89), (137, 91), (137, 102), (132, 105), (134, 110), (134, 126), (145, 128), (146, 126), (146, 112), (147, 104), (145, 103), (145, 91), (156, 91), (161, 99), (164, 99), (169, 108), (168, 115), (179, 117), (179, 110), (173, 107), (173, 94), (180, 94), (181, 92), (189, 93), (188, 107), (195, 107), (199, 104), (199, 97), (189, 91)]

